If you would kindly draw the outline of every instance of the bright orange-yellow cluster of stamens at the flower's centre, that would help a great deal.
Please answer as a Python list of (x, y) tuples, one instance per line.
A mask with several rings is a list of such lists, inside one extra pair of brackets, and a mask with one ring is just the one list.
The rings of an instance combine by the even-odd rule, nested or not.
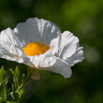
[(37, 42), (29, 43), (26, 47), (24, 47), (24, 52), (28, 56), (35, 56), (44, 54), (46, 51), (50, 49), (50, 46)]

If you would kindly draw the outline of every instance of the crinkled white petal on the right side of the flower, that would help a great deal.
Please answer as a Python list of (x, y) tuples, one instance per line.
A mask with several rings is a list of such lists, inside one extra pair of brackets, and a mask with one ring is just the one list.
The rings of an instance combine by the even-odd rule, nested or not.
[(79, 39), (71, 32), (65, 31), (51, 41), (52, 54), (61, 58), (69, 66), (83, 60), (83, 48), (79, 47)]

